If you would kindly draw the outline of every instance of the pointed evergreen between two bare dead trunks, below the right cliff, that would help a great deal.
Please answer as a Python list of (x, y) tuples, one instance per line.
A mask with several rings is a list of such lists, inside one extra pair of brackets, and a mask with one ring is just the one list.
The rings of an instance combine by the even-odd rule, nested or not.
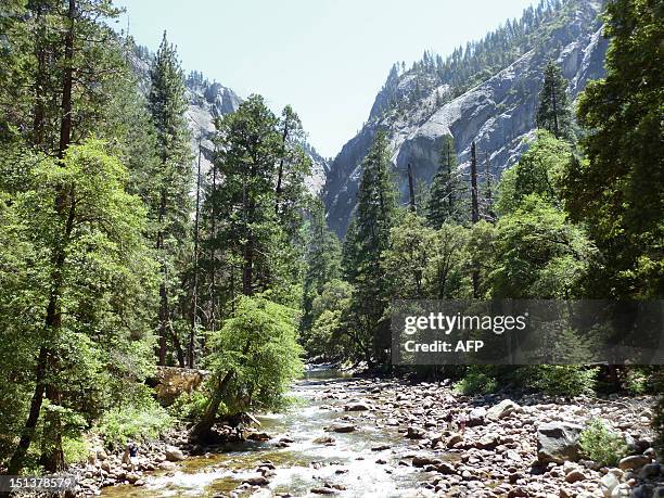
[(434, 175), (429, 192), (427, 225), (437, 230), (448, 221), (465, 221), (468, 219), (465, 191), (461, 173), (457, 169), (455, 139), (446, 135), (443, 138), (439, 167)]

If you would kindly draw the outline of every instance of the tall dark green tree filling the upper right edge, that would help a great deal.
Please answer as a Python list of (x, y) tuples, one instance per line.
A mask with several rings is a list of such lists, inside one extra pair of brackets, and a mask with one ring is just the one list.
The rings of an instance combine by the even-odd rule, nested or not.
[(604, 258), (591, 289), (664, 296), (664, 23), (659, 0), (606, 4), (606, 77), (579, 98), (587, 161), (569, 171), (566, 206)]

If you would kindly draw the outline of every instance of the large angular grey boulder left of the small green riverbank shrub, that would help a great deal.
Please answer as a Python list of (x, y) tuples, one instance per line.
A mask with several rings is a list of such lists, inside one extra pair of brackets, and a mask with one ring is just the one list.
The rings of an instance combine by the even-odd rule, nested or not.
[(579, 460), (578, 439), (584, 427), (566, 422), (549, 422), (537, 427), (537, 460), (562, 463)]

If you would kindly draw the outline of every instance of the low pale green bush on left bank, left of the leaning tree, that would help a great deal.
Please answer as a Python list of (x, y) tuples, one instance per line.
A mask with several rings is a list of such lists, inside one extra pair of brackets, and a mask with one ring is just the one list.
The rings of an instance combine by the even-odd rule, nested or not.
[(173, 426), (174, 419), (152, 401), (141, 407), (120, 407), (105, 412), (97, 431), (111, 448), (124, 447), (129, 439), (154, 440)]

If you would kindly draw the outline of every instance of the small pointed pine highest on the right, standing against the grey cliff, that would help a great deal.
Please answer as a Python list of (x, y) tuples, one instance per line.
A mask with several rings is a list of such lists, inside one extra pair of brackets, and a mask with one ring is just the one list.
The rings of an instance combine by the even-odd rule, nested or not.
[(538, 128), (550, 131), (558, 139), (573, 138), (567, 80), (553, 61), (549, 61), (544, 71), (536, 123)]

